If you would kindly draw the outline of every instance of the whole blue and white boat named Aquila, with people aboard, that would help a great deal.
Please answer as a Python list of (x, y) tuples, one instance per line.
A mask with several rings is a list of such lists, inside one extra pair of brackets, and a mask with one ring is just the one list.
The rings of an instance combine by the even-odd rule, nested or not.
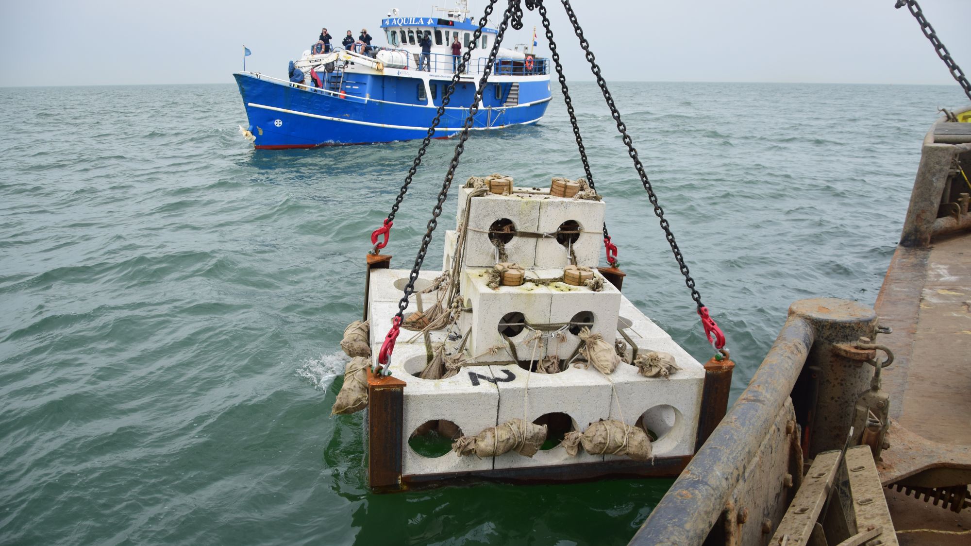
[[(291, 63), (288, 79), (259, 72), (234, 74), (250, 122), (240, 127), (244, 136), (263, 150), (424, 138), (460, 61), (452, 55), (455, 39), (462, 51), (472, 47), (471, 57), (435, 138), (458, 133), (496, 30), (484, 28), (478, 43), (472, 44), (478, 24), (469, 17), (465, 2), (436, 10), (443, 17), (399, 17), (397, 10), (389, 12), (381, 24), (385, 47), (355, 42), (332, 51), (304, 51)], [(430, 54), (424, 57), (423, 37), (431, 42)], [(499, 49), (474, 129), (529, 125), (543, 118), (551, 98), (549, 62), (531, 51), (525, 46)]]

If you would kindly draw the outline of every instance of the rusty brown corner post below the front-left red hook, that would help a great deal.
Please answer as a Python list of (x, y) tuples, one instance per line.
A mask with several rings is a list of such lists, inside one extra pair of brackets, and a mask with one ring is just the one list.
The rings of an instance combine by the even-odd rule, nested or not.
[(368, 370), (368, 483), (372, 490), (401, 487), (404, 435), (404, 381)]

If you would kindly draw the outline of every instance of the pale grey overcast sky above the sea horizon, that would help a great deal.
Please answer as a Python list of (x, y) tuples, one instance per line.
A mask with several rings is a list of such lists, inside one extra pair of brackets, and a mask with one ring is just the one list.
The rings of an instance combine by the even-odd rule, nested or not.
[[(503, 0), (499, 0), (500, 3)], [(451, 0), (439, 0), (445, 4)], [(471, 0), (481, 14), (485, 0)], [(285, 76), (326, 26), (340, 41), (381, 18), (432, 15), (433, 0), (0, 0), (0, 85), (232, 83), (242, 68)], [(590, 80), (562, 6), (547, 0), (571, 79)], [(894, 0), (574, 0), (604, 76), (615, 81), (954, 84)], [(499, 4), (497, 4), (499, 6)], [(971, 70), (969, 0), (921, 0), (958, 64)], [(497, 10), (496, 14), (500, 12)], [(539, 17), (510, 30), (527, 42)], [(478, 16), (477, 16), (478, 17)], [(495, 20), (498, 20), (496, 17)], [(540, 54), (548, 53), (540, 34)], [(969, 73), (971, 74), (971, 73)], [(956, 85), (956, 84), (954, 84)]]

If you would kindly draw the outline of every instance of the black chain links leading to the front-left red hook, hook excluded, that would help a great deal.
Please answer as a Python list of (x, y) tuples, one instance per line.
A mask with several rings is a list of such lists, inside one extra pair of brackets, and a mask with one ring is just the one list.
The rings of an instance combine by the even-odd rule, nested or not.
[[(494, 1), (492, 4), (494, 4)], [(489, 4), (485, 8), (483, 20), (492, 13), (492, 4)], [(492, 65), (495, 63), (495, 58), (499, 54), (499, 45), (502, 43), (502, 37), (509, 27), (510, 18), (516, 13), (516, 8), (518, 7), (519, 0), (509, 0), (509, 7), (506, 8), (506, 11), (503, 13), (502, 22), (499, 23), (495, 41), (492, 42), (492, 49), (488, 53), (488, 59), (485, 62), (482, 77), (479, 79), (479, 85), (476, 87), (476, 94), (472, 100), (472, 106), (469, 107), (469, 115), (462, 125), (462, 132), (458, 137), (458, 144), (455, 145), (452, 162), (449, 164), (449, 172), (445, 175), (445, 182), (442, 183), (442, 190), (439, 191), (438, 201), (435, 203), (435, 208), (432, 209), (431, 220), (428, 221), (428, 229), (425, 231), (424, 237), (421, 238), (421, 248), (419, 249), (418, 256), (415, 257), (415, 266), (412, 267), (412, 271), (408, 275), (408, 285), (405, 286), (405, 293), (401, 297), (401, 300), (398, 301), (398, 312), (395, 314), (395, 317), (399, 321), (404, 318), (405, 309), (408, 308), (408, 298), (415, 292), (415, 281), (419, 278), (421, 264), (424, 262), (425, 254), (428, 252), (428, 246), (431, 244), (432, 233), (438, 227), (438, 217), (442, 214), (442, 207), (445, 205), (445, 201), (449, 196), (449, 188), (452, 187), (455, 169), (458, 168), (458, 159), (462, 155), (462, 152), (465, 151), (465, 141), (469, 139), (469, 128), (472, 126), (476, 113), (479, 112), (479, 103), (482, 100), (485, 85), (488, 83), (488, 77), (492, 73)], [(521, 19), (519, 24), (521, 26)]]

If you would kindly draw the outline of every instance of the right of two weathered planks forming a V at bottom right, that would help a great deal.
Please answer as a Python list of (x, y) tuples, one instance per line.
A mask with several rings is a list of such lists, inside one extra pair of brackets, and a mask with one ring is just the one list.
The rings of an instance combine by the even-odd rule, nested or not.
[(881, 529), (886, 531), (879, 533), (881, 544), (896, 545), (897, 536), (893, 532), (887, 498), (884, 497), (877, 466), (867, 446), (848, 449), (846, 467), (850, 476), (850, 490), (853, 492), (856, 531), (861, 533), (868, 529)]

